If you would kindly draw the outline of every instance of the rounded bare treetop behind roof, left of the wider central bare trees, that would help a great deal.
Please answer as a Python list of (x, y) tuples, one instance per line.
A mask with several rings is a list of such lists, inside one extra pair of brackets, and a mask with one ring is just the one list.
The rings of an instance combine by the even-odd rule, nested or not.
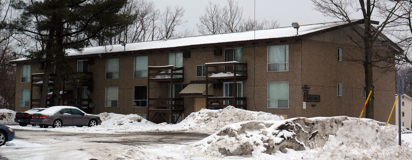
[(158, 39), (170, 39), (175, 36), (176, 26), (187, 22), (182, 20), (184, 14), (185, 9), (183, 7), (175, 6), (172, 9), (171, 6), (167, 6), (160, 19)]

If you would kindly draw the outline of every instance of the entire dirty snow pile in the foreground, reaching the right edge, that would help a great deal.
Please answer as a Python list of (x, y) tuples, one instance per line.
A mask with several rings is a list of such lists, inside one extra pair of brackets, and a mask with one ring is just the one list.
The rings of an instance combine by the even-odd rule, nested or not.
[(407, 144), (398, 146), (396, 130), (349, 117), (293, 118), (283, 121), (245, 121), (225, 126), (186, 146), (203, 155), (255, 158), (307, 150), (297, 159), (374, 160), (412, 159)]

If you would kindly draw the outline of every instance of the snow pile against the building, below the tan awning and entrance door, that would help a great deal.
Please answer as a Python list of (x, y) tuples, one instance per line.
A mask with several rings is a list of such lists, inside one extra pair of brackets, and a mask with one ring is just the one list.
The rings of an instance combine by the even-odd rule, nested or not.
[(242, 110), (233, 106), (228, 106), (221, 110), (202, 109), (198, 112), (193, 112), (176, 126), (195, 130), (219, 130), (220, 128), (232, 123), (243, 121), (267, 121), (267, 120), (283, 120), (282, 116), (266, 112), (255, 112)]

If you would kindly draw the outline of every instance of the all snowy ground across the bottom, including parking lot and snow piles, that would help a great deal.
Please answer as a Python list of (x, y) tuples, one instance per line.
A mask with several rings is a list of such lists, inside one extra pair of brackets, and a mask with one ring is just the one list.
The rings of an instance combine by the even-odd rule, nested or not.
[[(7, 112), (8, 114), (4, 115), (10, 116), (14, 111)], [(56, 158), (48, 155), (48, 152), (54, 148), (57, 150), (56, 147), (65, 146), (70, 146), (70, 151), (59, 151), (60, 159), (412, 159), (412, 133), (407, 133), (410, 130), (403, 128), (407, 134), (402, 135), (403, 145), (398, 146), (397, 126), (386, 127), (385, 123), (371, 119), (302, 117), (284, 120), (283, 117), (274, 114), (241, 110), (231, 106), (223, 110), (203, 109), (190, 114), (178, 124), (155, 124), (136, 114), (101, 113), (98, 116), (103, 123), (96, 127), (39, 128), (12, 125), (11, 128), (18, 130), (16, 139), (0, 147), (0, 159), (33, 158), (22, 156), (24, 153), (36, 153), (38, 156), (35, 158), (40, 160)], [(10, 119), (12, 118), (5, 117), (0, 123), (10, 123)], [(21, 133), (21, 138), (18, 133)], [(41, 136), (41, 133), (47, 134), (47, 137)], [(57, 133), (75, 138), (65, 139)], [(140, 139), (144, 139), (139, 137), (140, 134), (155, 133), (174, 140), (152, 141), (151, 139), (156, 137), (151, 137), (145, 139), (144, 143), (140, 142)], [(195, 134), (206, 133), (206, 136), (204, 139), (198, 137), (201, 140), (197, 141), (185, 141), (173, 138), (173, 135), (179, 136), (177, 133), (192, 134), (194, 137)], [(36, 136), (32, 137), (30, 134)], [(124, 139), (136, 143), (124, 142)], [(85, 148), (91, 144), (97, 145), (99, 149)], [(108, 150), (107, 156), (103, 156), (106, 154), (105, 150)], [(17, 152), (23, 154), (17, 155)]]

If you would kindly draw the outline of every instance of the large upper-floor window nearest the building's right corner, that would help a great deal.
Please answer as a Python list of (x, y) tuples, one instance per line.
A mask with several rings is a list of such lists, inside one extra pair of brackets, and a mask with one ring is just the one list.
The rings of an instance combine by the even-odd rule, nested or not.
[(267, 71), (289, 71), (289, 45), (267, 46)]

